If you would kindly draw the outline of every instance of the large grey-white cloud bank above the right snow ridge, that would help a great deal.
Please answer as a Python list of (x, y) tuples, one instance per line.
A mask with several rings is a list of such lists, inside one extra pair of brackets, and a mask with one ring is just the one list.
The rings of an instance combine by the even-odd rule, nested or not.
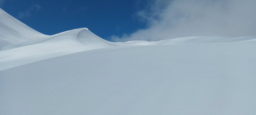
[(256, 35), (256, 0), (154, 0), (136, 14), (147, 23), (114, 42), (190, 36)]

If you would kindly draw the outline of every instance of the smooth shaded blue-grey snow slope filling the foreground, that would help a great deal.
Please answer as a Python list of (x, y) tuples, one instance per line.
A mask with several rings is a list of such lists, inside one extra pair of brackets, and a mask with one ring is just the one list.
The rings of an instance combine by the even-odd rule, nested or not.
[(115, 47), (2, 70), (0, 114), (253, 115), (255, 47)]

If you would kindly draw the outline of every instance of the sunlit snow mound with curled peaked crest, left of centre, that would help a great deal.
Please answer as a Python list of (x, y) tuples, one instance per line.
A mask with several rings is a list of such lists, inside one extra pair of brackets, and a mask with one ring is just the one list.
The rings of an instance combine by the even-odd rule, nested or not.
[[(22, 47), (0, 51), (0, 70), (92, 49), (114, 47), (90, 32), (87, 28), (74, 29), (60, 34), (27, 41)], [(21, 45), (20, 45), (21, 46)]]

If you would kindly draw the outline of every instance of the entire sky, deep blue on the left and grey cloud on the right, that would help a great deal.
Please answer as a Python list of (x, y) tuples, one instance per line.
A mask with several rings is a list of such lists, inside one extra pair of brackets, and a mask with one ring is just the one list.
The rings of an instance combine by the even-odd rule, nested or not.
[(0, 0), (10, 15), (46, 34), (87, 27), (124, 42), (256, 35), (256, 0)]

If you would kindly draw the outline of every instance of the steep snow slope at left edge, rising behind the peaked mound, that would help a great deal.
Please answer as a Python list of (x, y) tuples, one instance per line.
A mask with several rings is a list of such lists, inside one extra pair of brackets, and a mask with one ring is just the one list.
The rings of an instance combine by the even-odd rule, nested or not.
[(24, 46), (42, 37), (47, 35), (28, 27), (0, 8), (0, 50)]

